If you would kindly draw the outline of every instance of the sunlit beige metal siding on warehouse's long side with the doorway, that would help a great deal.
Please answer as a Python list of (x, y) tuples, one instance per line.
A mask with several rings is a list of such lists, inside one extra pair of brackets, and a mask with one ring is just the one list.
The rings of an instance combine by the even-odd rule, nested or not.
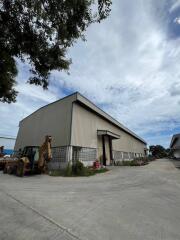
[(121, 136), (120, 139), (112, 141), (113, 150), (144, 154), (144, 147), (146, 147), (144, 143), (97, 114), (74, 103), (71, 144), (74, 146), (100, 148), (100, 143), (97, 142), (97, 130), (108, 130)]

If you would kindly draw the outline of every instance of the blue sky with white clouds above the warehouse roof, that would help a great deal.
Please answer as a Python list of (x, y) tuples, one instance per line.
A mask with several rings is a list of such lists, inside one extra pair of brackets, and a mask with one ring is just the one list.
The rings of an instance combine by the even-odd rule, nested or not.
[(15, 104), (0, 103), (0, 135), (16, 136), (19, 121), (79, 91), (148, 144), (168, 147), (180, 132), (180, 0), (114, 0), (112, 12), (69, 49), (70, 75), (53, 71), (48, 91), (26, 84), (17, 60)]

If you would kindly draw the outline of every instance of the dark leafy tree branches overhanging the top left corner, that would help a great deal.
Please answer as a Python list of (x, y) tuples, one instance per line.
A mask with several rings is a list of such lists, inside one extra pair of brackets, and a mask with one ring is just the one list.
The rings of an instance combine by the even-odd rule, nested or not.
[(30, 84), (48, 88), (52, 70), (68, 70), (69, 47), (110, 13), (111, 0), (1, 0), (0, 101), (15, 102), (16, 59), (30, 63)]

